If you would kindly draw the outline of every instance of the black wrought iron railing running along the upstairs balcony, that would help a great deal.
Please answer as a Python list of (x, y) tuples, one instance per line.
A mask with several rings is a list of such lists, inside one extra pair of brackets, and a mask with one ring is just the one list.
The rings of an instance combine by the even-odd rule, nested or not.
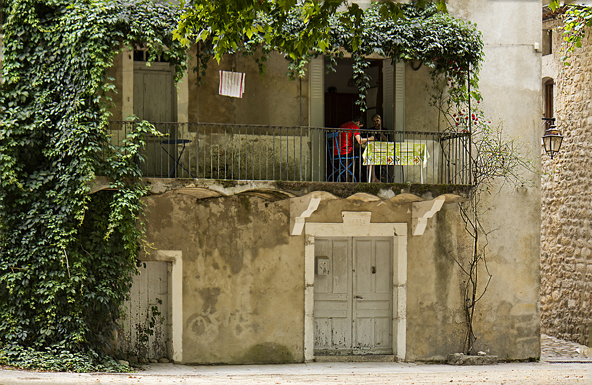
[[(135, 123), (111, 121), (113, 143)], [(353, 153), (334, 147), (353, 140), (338, 128), (153, 122), (159, 135), (143, 135), (136, 154), (143, 176), (310, 182), (470, 185), (469, 134), (360, 130), (375, 142)], [(366, 163), (366, 164), (365, 164)], [(368, 163), (374, 163), (369, 166)]]

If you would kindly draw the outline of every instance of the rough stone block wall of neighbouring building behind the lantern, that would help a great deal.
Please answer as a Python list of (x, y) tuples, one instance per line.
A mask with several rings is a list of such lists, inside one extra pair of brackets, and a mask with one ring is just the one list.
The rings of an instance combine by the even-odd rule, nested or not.
[(565, 138), (553, 159), (542, 150), (540, 326), (542, 333), (588, 344), (588, 332), (592, 332), (592, 37), (587, 31), (583, 47), (570, 55), (571, 65), (565, 67), (558, 30), (553, 43), (555, 52), (543, 57), (543, 80), (554, 77), (556, 125)]

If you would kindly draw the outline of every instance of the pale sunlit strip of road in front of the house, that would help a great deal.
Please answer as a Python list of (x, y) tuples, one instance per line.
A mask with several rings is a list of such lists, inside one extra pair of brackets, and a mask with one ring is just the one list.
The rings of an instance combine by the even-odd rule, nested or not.
[(591, 384), (592, 364), (510, 363), (476, 367), (404, 363), (189, 366), (150, 364), (129, 374), (0, 370), (0, 384), (410, 385)]

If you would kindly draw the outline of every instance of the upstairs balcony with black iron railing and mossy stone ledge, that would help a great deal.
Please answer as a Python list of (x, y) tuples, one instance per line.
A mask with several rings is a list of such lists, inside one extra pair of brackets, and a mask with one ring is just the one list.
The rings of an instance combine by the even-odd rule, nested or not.
[[(160, 135), (144, 135), (144, 148), (134, 156), (144, 179), (160, 185), (171, 185), (165, 179), (176, 179), (176, 184), (208, 190), (205, 196), (213, 196), (211, 190), (249, 184), (243, 190), (264, 190), (267, 194), (271, 190), (298, 190), (285, 196), (314, 189), (337, 196), (391, 189), (395, 195), (410, 192), (421, 196), (431, 191), (433, 196), (452, 193), (462, 197), (471, 185), (469, 134), (464, 132), (377, 135), (377, 142), (372, 143), (374, 151), (390, 146), (391, 157), (389, 164), (374, 166), (382, 183), (369, 184), (364, 183), (369, 167), (362, 164), (366, 146), (355, 151), (353, 176), (351, 172), (340, 173), (340, 162), (332, 158), (332, 137), (343, 131), (337, 128), (176, 122), (153, 125)], [(108, 131), (112, 143), (119, 143), (135, 127), (133, 122), (111, 121)], [(376, 134), (360, 131), (363, 138)], [(365, 155), (369, 156), (368, 151)], [(204, 194), (195, 196), (203, 198)]]

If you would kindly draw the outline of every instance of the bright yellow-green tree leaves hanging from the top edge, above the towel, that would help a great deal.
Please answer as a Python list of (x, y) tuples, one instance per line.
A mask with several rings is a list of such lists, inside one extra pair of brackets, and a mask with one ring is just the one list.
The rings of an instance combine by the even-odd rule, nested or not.
[[(439, 11), (446, 12), (446, 1), (417, 1), (414, 8), (426, 8), (426, 3), (435, 4)], [(365, 28), (363, 12), (358, 4), (345, 0), (188, 0), (182, 1), (183, 9), (175, 37), (184, 44), (193, 41), (210, 41), (213, 56), (218, 62), (222, 56), (236, 50), (244, 43), (244, 37), (263, 35), (263, 40), (274, 49), (287, 53), (292, 60), (309, 51), (324, 52), (332, 44), (330, 24), (338, 18), (353, 31), (351, 45), (356, 50), (359, 37)], [(398, 20), (403, 16), (404, 5), (394, 1), (377, 3), (383, 19)], [(297, 33), (286, 34), (285, 27), (300, 26)]]

